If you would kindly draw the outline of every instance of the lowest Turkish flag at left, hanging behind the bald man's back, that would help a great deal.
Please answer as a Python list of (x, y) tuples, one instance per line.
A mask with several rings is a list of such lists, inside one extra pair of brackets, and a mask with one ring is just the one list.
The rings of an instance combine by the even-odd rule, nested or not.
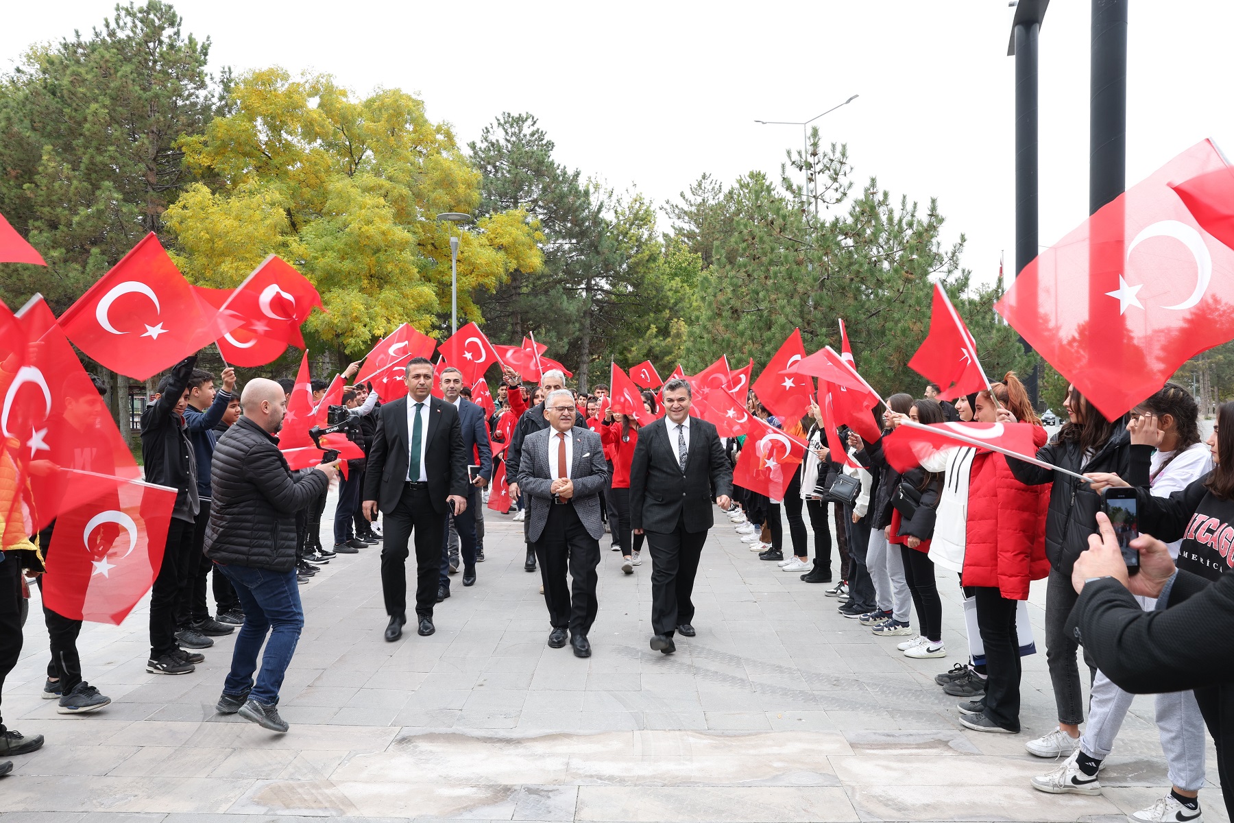
[(118, 626), (158, 576), (175, 489), (65, 471), (74, 505), (56, 518), (43, 602), (69, 619)]

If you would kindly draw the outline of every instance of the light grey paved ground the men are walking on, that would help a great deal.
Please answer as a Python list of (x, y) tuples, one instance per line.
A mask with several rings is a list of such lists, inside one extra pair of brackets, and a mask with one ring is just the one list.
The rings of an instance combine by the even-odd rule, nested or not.
[[(327, 508), (327, 511), (332, 511)], [(328, 523), (327, 523), (328, 527)], [(650, 566), (603, 552), (594, 655), (549, 649), (522, 528), (489, 513), (479, 584), (437, 634), (383, 640), (378, 550), (301, 587), (307, 627), (270, 734), (213, 712), (232, 640), (193, 675), (147, 675), (144, 606), (88, 626), (86, 677), (115, 702), (63, 717), (39, 698), (37, 600), (4, 713), (47, 745), (0, 780), (5, 823), (216, 823), (289, 817), (470, 821), (1118, 821), (1167, 784), (1150, 700), (1137, 701), (1099, 797), (1048, 796), (1024, 740), (1054, 724), (1044, 653), (1024, 671), (1025, 730), (963, 729), (933, 676), (963, 660), (954, 579), (939, 581), (951, 656), (908, 660), (835, 613), (824, 586), (756, 559), (717, 527), (700, 569), (698, 635), (649, 650)], [(1041, 637), (1044, 589), (1034, 587)], [(37, 598), (37, 593), (36, 593)], [(1215, 787), (1204, 817), (1225, 821)]]

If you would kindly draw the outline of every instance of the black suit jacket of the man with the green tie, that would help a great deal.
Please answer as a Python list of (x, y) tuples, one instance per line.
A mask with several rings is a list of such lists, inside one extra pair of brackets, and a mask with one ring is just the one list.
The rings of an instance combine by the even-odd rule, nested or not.
[[(364, 475), (364, 500), (378, 501), (378, 508), (389, 515), (402, 497), (407, 481), (407, 460), (411, 433), (407, 431), (407, 403), (400, 397), (378, 411), (378, 431), (369, 449)], [(433, 508), (445, 515), (449, 495), (468, 496), (466, 465), (471, 459), (463, 448), (463, 427), (454, 406), (437, 397), (428, 399), (428, 438), (424, 444), (424, 476)]]

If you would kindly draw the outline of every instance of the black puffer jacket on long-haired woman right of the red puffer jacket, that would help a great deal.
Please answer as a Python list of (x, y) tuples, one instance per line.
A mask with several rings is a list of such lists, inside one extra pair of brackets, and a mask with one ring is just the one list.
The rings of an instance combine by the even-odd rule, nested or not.
[[(1079, 443), (1059, 443), (1055, 436), (1038, 449), (1037, 459), (1077, 474), (1112, 471), (1119, 478), (1129, 478), (1132, 438), (1125, 431), (1119, 431), (1097, 449), (1091, 460), (1085, 461)], [(1007, 458), (1007, 465), (1017, 480), (1029, 486), (1054, 484), (1050, 489), (1050, 510), (1045, 516), (1045, 556), (1054, 570), (1070, 576), (1076, 558), (1088, 548), (1088, 536), (1097, 532), (1101, 495), (1071, 475), (1058, 474), (1014, 458)]]

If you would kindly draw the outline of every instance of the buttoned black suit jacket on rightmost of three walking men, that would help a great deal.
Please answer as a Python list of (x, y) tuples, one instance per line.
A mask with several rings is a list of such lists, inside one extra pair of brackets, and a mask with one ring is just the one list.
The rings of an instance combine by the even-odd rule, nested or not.
[(638, 429), (638, 445), (629, 466), (631, 528), (668, 533), (685, 521), (687, 532), (706, 532), (714, 522), (712, 494), (733, 495), (733, 465), (724, 454), (716, 427), (690, 418), (686, 470), (677, 461), (677, 445), (669, 442), (668, 417)]

